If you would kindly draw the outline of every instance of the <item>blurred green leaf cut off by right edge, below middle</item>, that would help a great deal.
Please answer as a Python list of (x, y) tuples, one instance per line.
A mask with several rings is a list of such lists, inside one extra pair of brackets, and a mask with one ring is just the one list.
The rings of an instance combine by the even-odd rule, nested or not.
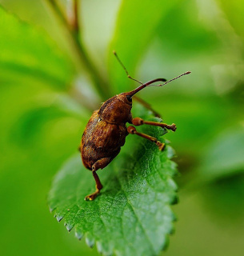
[(204, 202), (224, 225), (227, 220), (231, 225), (238, 222), (244, 210), (244, 129), (232, 125), (206, 148), (194, 180), (195, 187), (205, 185), (202, 187)]

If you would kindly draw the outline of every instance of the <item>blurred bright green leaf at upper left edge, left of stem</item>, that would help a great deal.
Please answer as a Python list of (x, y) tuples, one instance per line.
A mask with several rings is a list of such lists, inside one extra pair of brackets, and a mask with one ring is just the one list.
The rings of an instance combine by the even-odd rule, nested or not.
[(37, 27), (21, 22), (0, 6), (0, 80), (66, 88), (74, 69), (66, 56)]

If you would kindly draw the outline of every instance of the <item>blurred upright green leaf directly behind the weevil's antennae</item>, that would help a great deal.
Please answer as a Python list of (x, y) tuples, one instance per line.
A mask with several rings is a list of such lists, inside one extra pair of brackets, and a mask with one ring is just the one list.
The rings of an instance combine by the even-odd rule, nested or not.
[(134, 77), (135, 66), (155, 38), (162, 18), (177, 2), (178, 0), (163, 4), (157, 0), (122, 2), (109, 50), (110, 84), (113, 85), (114, 93), (130, 90), (131, 87), (128, 86), (130, 80), (126, 78), (125, 71), (114, 58), (112, 50), (118, 52), (126, 69)]

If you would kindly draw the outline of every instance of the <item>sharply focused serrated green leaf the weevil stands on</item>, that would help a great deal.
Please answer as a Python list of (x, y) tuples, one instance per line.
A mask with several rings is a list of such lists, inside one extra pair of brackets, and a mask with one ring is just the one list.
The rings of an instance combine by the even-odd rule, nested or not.
[[(138, 109), (142, 118), (158, 121)], [(144, 114), (142, 114), (142, 112)], [(142, 126), (138, 130), (161, 138), (165, 130)], [(77, 238), (86, 237), (105, 255), (158, 255), (174, 231), (170, 205), (177, 202), (172, 177), (176, 164), (170, 146), (159, 151), (154, 143), (128, 136), (122, 152), (98, 175), (104, 188), (92, 202), (84, 201), (94, 190), (94, 179), (77, 154), (58, 172), (49, 194), (50, 210)]]

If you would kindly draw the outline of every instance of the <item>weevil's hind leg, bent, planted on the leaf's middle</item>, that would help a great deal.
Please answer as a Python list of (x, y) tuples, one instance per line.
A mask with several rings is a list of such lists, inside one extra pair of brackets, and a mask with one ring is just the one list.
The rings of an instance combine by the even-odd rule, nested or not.
[(96, 171), (98, 169), (105, 168), (110, 162), (111, 162), (111, 158), (102, 158), (102, 159), (99, 159), (97, 162), (95, 162), (94, 165), (92, 166), (92, 174), (96, 182), (96, 190), (94, 193), (86, 196), (85, 198), (86, 201), (94, 200), (100, 193), (100, 190), (102, 190), (102, 183), (100, 182), (100, 179)]

